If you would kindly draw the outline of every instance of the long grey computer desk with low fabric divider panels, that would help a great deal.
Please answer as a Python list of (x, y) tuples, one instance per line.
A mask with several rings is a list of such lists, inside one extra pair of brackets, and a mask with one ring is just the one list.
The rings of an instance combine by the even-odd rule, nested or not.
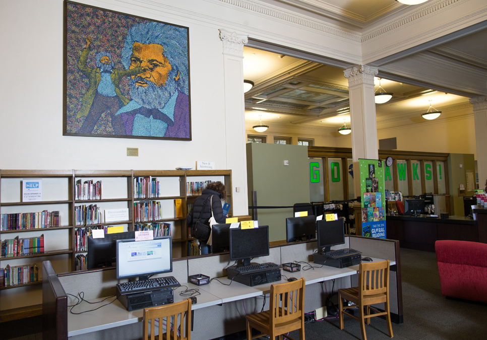
[[(400, 257), (396, 252), (397, 241), (372, 239), (364, 237), (346, 237), (344, 245), (333, 248), (351, 247), (362, 252), (363, 256), (381, 258), (391, 261), (391, 315), (395, 315), (395, 322), (402, 322), (402, 289), (400, 285)], [(398, 246), (397, 246), (398, 249)], [(298, 242), (273, 246), (269, 256), (255, 258), (256, 262), (286, 263), (293, 261), (310, 261), (310, 256), (316, 250), (316, 241)], [(231, 282), (226, 278), (226, 267), (233, 264), (228, 253), (209, 254), (173, 260), (173, 271), (167, 275), (174, 276), (181, 286), (198, 289), (197, 303), (192, 305), (194, 310), (194, 328), (192, 338), (212, 339), (245, 329), (245, 315), (259, 312), (263, 307), (268, 308), (268, 298), (271, 283), (254, 287)], [(314, 264), (312, 261), (308, 270), (303, 270), (307, 264), (301, 263), (301, 270), (294, 273), (281, 269), (282, 280), (275, 283), (287, 282), (287, 278), (305, 278), (306, 296), (305, 311), (311, 312), (326, 305), (325, 291), (336, 292), (338, 288), (351, 287), (356, 282), (357, 266), (334, 268)], [(190, 275), (203, 274), (215, 278), (207, 285), (196, 286), (188, 283)], [(84, 292), (85, 300), (96, 302), (104, 297), (115, 295), (115, 285), (118, 283), (113, 268), (86, 270), (75, 273), (60, 274), (58, 279), (67, 294), (78, 295)], [(166, 276), (167, 276), (166, 275)], [(165, 275), (160, 275), (165, 276)], [(218, 280), (218, 281), (217, 281)], [(120, 280), (121, 282), (121, 280)], [(324, 287), (325, 285), (326, 287)], [(326, 288), (326, 289), (325, 289)], [(187, 299), (179, 293), (185, 290), (179, 287), (174, 290), (175, 302)], [(337, 294), (333, 301), (338, 302)], [(113, 301), (114, 300), (114, 301)], [(99, 304), (82, 304), (73, 308), (73, 312), (91, 310), (107, 304), (97, 310), (83, 314), (72, 314), (68, 311), (68, 337), (73, 339), (106, 339), (117, 340), (137, 339), (142, 335), (142, 310), (129, 312), (115, 297), (111, 297)], [(73, 305), (76, 299), (68, 295), (68, 305)], [(264, 304), (265, 302), (265, 304)], [(70, 307), (68, 308), (68, 310)]]

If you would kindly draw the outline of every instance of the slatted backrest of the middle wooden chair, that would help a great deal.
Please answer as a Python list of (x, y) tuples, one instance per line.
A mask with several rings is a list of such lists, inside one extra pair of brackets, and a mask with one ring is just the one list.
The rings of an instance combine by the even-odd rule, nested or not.
[(305, 279), (271, 285), (270, 326), (305, 317)]

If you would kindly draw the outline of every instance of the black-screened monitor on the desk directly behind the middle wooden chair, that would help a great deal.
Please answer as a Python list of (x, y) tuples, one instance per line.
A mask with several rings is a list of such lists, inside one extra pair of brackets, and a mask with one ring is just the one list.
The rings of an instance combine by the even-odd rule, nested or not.
[(229, 231), (230, 260), (242, 260), (238, 266), (249, 265), (253, 257), (269, 255), (269, 226)]

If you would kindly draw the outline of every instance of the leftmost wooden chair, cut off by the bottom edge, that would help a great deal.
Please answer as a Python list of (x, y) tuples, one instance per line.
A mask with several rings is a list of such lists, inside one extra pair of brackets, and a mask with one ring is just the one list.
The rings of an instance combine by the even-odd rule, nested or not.
[[(156, 319), (159, 325), (159, 335), (156, 335), (155, 331)], [(191, 340), (191, 299), (144, 308), (142, 334), (144, 340)]]

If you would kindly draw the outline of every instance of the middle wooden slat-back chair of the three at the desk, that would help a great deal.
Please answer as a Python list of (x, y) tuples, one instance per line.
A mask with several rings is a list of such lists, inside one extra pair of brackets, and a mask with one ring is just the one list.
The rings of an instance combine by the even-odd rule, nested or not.
[(305, 279), (271, 285), (269, 310), (247, 315), (247, 340), (252, 337), (252, 328), (261, 331), (275, 339), (294, 340), (285, 335), (290, 331), (299, 329), (299, 338), (305, 340)]

